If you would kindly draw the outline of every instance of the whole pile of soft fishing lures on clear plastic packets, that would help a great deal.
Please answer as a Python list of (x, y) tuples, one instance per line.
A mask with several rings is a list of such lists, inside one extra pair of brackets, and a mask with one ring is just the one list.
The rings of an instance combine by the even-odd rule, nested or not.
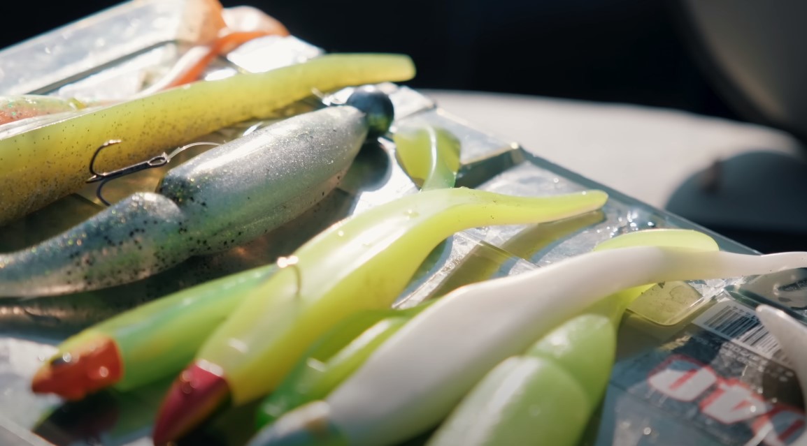
[(554, 166), (414, 75), (208, 0), (0, 52), (0, 444), (801, 436), (807, 330), (773, 308), (803, 316), (807, 254)]

